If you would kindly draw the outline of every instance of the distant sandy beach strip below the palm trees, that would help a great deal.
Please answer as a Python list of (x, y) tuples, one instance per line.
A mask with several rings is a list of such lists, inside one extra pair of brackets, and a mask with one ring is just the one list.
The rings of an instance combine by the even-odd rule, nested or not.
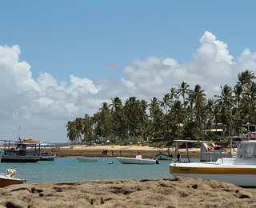
[[(107, 154), (102, 154), (102, 150), (107, 150)], [(58, 157), (65, 156), (88, 156), (88, 157), (110, 157), (110, 156), (124, 156), (124, 157), (134, 157), (138, 153), (142, 157), (154, 157), (156, 154), (160, 153), (168, 154), (167, 148), (158, 148), (151, 146), (64, 146), (60, 148), (46, 148), (44, 152), (50, 154), (55, 153)], [(180, 152), (186, 152), (186, 149), (180, 149)], [(190, 155), (198, 157), (200, 152), (199, 148), (190, 148)], [(175, 155), (175, 150), (170, 148), (170, 154)]]

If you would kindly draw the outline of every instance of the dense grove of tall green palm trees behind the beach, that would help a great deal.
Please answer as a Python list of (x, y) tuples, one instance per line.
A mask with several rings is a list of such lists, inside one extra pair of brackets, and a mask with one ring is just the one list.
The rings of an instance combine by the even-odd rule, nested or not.
[(130, 97), (125, 103), (112, 98), (103, 102), (93, 116), (85, 114), (66, 124), (70, 142), (93, 142), (100, 138), (111, 142), (154, 141), (174, 138), (214, 139), (216, 134), (205, 131), (224, 128), (224, 135), (241, 133), (242, 124), (256, 123), (256, 83), (250, 70), (238, 74), (238, 82), (221, 86), (214, 99), (206, 98), (200, 85), (190, 89), (182, 82), (172, 87), (162, 99), (150, 103)]

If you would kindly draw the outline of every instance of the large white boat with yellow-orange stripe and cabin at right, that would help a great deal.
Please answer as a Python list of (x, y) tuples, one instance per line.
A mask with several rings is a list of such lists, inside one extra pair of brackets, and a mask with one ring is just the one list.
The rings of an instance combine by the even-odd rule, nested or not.
[(256, 141), (240, 142), (236, 158), (218, 158), (217, 162), (170, 163), (174, 177), (213, 179), (237, 186), (256, 186)]

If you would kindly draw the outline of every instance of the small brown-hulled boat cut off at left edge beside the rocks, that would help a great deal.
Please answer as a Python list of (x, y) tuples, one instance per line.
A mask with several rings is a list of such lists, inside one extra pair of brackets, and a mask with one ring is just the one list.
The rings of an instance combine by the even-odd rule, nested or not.
[(23, 184), (26, 182), (26, 180), (14, 178), (15, 174), (16, 170), (14, 169), (7, 169), (6, 174), (0, 174), (0, 188), (10, 186), (13, 184)]

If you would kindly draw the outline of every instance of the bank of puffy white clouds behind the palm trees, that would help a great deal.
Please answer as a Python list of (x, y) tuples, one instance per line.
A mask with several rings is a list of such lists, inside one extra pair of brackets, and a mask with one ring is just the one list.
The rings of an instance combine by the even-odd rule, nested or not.
[(146, 98), (169, 92), (170, 87), (187, 82), (200, 84), (210, 96), (219, 86), (234, 85), (242, 70), (256, 74), (256, 53), (245, 49), (234, 62), (227, 44), (206, 31), (200, 38), (190, 62), (155, 56), (134, 58), (123, 69), (124, 77), (90, 80), (70, 75), (70, 85), (40, 73), (32, 77), (30, 64), (21, 62), (19, 46), (0, 46), (0, 130), (2, 138), (16, 138), (18, 126), (22, 137), (42, 141), (66, 141), (68, 119), (94, 114), (102, 102), (118, 96)]

